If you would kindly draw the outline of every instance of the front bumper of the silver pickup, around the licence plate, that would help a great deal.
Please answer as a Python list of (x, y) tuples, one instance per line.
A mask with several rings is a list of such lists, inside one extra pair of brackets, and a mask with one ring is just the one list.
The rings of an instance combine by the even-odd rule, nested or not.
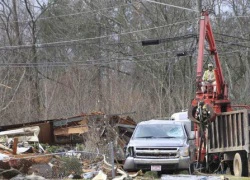
[(138, 171), (151, 170), (151, 165), (161, 165), (162, 170), (186, 170), (189, 168), (190, 157), (179, 157), (178, 159), (141, 159), (128, 157), (124, 163), (124, 170)]

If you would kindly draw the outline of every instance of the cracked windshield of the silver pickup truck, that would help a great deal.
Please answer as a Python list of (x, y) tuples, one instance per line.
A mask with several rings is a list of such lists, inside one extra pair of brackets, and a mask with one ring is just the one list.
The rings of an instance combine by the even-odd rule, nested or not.
[(178, 124), (143, 124), (139, 125), (134, 138), (183, 138), (184, 132)]

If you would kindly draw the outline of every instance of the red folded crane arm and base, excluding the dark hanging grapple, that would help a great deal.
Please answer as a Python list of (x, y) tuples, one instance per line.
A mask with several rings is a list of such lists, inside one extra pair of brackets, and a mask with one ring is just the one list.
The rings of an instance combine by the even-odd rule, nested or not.
[[(228, 99), (228, 86), (225, 83), (222, 73), (221, 63), (219, 55), (216, 49), (215, 39), (209, 20), (208, 11), (201, 13), (199, 22), (199, 44), (198, 44), (198, 58), (197, 58), (197, 74), (196, 74), (196, 96), (192, 100), (192, 107), (190, 108), (189, 117), (196, 121), (195, 117), (198, 104), (202, 102), (210, 111), (210, 120), (213, 121), (216, 113), (232, 111), (231, 102)], [(216, 93), (211, 91), (202, 92), (202, 75), (203, 75), (203, 62), (204, 62), (204, 49), (205, 42), (209, 45), (209, 52), (213, 56), (215, 64), (215, 79), (216, 79)], [(208, 87), (207, 87), (208, 88)]]

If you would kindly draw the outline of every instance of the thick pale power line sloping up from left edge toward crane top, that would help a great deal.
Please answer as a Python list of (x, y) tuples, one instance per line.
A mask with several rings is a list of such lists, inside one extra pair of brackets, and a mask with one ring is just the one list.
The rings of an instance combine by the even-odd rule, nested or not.
[(96, 39), (103, 39), (107, 37), (114, 37), (114, 36), (122, 36), (122, 35), (128, 35), (128, 34), (133, 34), (133, 33), (138, 33), (138, 32), (143, 32), (143, 31), (149, 31), (149, 30), (154, 30), (154, 29), (159, 29), (163, 27), (168, 27), (168, 26), (174, 26), (182, 23), (190, 23), (189, 21), (181, 21), (181, 22), (176, 22), (173, 24), (167, 24), (163, 26), (157, 26), (153, 28), (147, 28), (147, 29), (141, 29), (141, 30), (135, 30), (135, 31), (130, 31), (130, 32), (124, 32), (124, 33), (119, 33), (119, 34), (111, 34), (111, 35), (106, 35), (106, 36), (98, 36), (98, 37), (93, 37), (93, 38), (85, 38), (85, 39), (76, 39), (76, 40), (69, 40), (69, 41), (57, 41), (57, 42), (49, 42), (49, 43), (41, 43), (41, 44), (35, 44), (35, 45), (19, 45), (19, 46), (2, 46), (0, 47), (0, 50), (13, 50), (13, 49), (22, 49), (22, 48), (44, 48), (44, 47), (51, 47), (53, 45), (66, 45), (70, 43), (77, 43), (81, 41), (88, 41), (88, 40), (96, 40)]

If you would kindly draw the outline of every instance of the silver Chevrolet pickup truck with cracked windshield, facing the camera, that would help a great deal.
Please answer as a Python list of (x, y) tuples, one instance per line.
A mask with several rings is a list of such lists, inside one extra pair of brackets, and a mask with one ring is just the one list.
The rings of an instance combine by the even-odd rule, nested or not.
[(191, 121), (180, 119), (148, 120), (137, 124), (126, 148), (123, 168), (127, 171), (174, 172), (188, 170), (195, 159)]

